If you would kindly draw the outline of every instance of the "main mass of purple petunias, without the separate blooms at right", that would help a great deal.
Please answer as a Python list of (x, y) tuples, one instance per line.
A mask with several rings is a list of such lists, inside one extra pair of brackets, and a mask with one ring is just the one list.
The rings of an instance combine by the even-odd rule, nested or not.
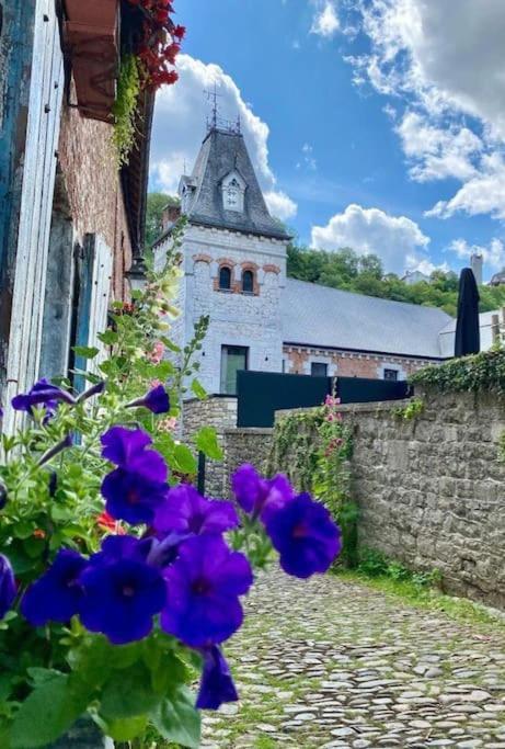
[[(222, 534), (239, 524), (231, 502), (202, 497), (194, 487), (169, 488), (162, 456), (139, 429), (114, 427), (102, 455), (116, 467), (105, 477), (106, 511), (147, 524), (144, 538), (110, 535), (85, 559), (61, 549), (21, 601), (35, 626), (79, 616), (90, 631), (122, 645), (161, 628), (204, 656), (200, 706), (237, 700), (219, 645), (241, 626), (240, 597), (253, 581), (246, 557)], [(9, 604), (10, 605), (10, 604)]]

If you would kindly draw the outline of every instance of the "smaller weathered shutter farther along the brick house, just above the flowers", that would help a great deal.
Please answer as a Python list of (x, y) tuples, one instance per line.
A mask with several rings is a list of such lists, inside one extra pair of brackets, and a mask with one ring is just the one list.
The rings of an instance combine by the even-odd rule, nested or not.
[[(74, 366), (84, 372), (96, 372), (105, 356), (105, 348), (97, 338), (107, 327), (108, 297), (111, 292), (112, 252), (104, 239), (97, 235), (85, 236), (84, 247), (78, 263), (79, 303), (76, 326), (76, 345), (95, 347), (100, 354), (88, 360), (76, 355)], [(77, 390), (85, 387), (84, 375), (73, 381)]]

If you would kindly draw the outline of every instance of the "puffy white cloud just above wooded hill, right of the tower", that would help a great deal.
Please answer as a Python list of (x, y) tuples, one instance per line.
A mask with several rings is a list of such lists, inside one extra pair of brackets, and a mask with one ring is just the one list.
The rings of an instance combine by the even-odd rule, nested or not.
[(379, 208), (348, 205), (326, 226), (312, 227), (312, 246), (337, 250), (351, 247), (360, 254), (381, 258), (386, 272), (402, 273), (423, 260), (429, 238), (406, 216), (390, 216)]

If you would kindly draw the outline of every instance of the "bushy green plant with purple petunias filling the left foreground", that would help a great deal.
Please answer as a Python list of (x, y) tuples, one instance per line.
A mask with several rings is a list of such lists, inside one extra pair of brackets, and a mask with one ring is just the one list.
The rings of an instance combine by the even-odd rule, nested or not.
[[(183, 351), (165, 334), (173, 257), (133, 306), (116, 306), (100, 337), (110, 355), (96, 366), (95, 350), (79, 351), (94, 366), (78, 373), (84, 389), (41, 381), (11, 404), (27, 425), (3, 435), (0, 467), (5, 749), (46, 746), (84, 713), (118, 741), (156, 730), (197, 747), (199, 711), (238, 699), (222, 645), (242, 624), (253, 569), (274, 548), (306, 578), (340, 552), (328, 510), (283, 476), (242, 466), (234, 501), (187, 483), (193, 451), (158, 424), (179, 416), (192, 382), (204, 397), (192, 359), (205, 321)], [(209, 428), (193, 442), (219, 457)]]

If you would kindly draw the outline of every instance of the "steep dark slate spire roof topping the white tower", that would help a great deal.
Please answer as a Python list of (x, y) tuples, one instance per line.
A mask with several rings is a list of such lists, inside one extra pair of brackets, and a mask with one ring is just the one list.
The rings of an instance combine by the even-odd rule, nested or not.
[[(243, 212), (228, 211), (222, 203), (222, 180), (237, 171), (245, 182)], [(191, 224), (231, 229), (288, 240), (283, 225), (266, 207), (242, 134), (211, 128), (202, 144), (191, 175), (180, 183), (183, 212)]]

